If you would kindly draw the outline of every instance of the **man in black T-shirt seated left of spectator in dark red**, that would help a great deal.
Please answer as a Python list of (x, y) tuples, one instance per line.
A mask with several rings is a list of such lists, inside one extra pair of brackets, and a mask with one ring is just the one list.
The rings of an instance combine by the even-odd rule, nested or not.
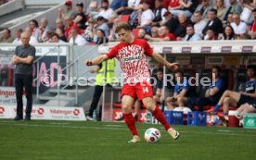
[(160, 23), (160, 26), (167, 26), (169, 28), (169, 32), (174, 33), (174, 31), (179, 26), (179, 21), (176, 18), (173, 18), (173, 15), (167, 11), (163, 15), (165, 20)]

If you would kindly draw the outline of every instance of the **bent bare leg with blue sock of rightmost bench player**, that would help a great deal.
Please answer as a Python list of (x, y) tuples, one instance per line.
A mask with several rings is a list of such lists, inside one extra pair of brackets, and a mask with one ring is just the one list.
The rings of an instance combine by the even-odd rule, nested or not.
[(232, 91), (225, 91), (221, 97), (221, 99), (219, 100), (218, 104), (214, 106), (213, 108), (213, 112), (217, 112), (218, 109), (224, 105), (224, 99), (226, 97), (232, 98), (234, 101), (236, 101), (238, 103), (239, 99), (240, 99), (241, 93), (239, 92), (232, 92)]

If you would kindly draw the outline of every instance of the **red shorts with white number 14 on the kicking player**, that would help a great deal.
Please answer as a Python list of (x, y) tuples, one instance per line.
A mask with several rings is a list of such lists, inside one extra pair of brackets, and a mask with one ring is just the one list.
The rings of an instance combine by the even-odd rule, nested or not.
[(153, 97), (153, 91), (151, 84), (147, 82), (136, 84), (124, 84), (122, 87), (121, 97), (123, 95), (130, 95), (138, 100), (142, 100), (145, 97)]

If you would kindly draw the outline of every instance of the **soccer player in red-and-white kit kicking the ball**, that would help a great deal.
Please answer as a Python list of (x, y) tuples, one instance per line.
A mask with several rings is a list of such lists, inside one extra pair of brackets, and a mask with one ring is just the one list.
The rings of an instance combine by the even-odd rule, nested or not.
[(122, 68), (124, 85), (122, 87), (122, 113), (127, 127), (131, 130), (134, 137), (129, 142), (140, 142), (135, 120), (132, 115), (132, 105), (137, 98), (142, 100), (152, 115), (156, 117), (167, 130), (167, 132), (176, 140), (179, 137), (179, 132), (171, 128), (159, 107), (153, 103), (152, 87), (149, 83), (150, 73), (147, 66), (147, 57), (151, 56), (160, 64), (176, 70), (177, 63), (169, 63), (160, 54), (153, 53), (149, 44), (142, 39), (134, 39), (131, 34), (131, 29), (128, 24), (121, 23), (116, 32), (119, 35), (121, 43), (115, 45), (107, 55), (99, 55), (94, 60), (85, 60), (86, 66), (93, 66), (102, 63), (109, 58), (116, 57)]

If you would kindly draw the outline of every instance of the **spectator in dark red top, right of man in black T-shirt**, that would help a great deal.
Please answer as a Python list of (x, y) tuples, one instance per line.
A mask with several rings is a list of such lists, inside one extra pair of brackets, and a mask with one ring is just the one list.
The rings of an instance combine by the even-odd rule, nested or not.
[(186, 14), (182, 13), (178, 16), (179, 20), (179, 26), (174, 31), (175, 37), (177, 37), (177, 40), (182, 40), (186, 36), (186, 26), (188, 24), (192, 24), (190, 19), (186, 18)]

